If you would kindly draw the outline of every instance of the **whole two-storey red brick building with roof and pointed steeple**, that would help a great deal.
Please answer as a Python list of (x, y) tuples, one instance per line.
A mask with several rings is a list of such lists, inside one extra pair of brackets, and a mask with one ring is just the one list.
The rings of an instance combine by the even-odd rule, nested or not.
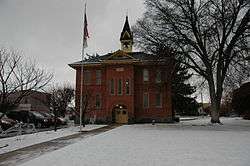
[(120, 37), (121, 50), (70, 64), (76, 70), (76, 108), (89, 95), (85, 120), (99, 123), (168, 122), (172, 120), (171, 67), (155, 56), (133, 52), (128, 17)]

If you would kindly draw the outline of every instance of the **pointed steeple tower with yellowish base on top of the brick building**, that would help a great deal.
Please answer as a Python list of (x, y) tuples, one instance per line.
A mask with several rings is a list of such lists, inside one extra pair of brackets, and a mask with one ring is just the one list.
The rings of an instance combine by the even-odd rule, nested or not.
[(128, 23), (128, 16), (126, 16), (126, 21), (121, 32), (121, 50), (125, 52), (132, 52), (133, 50), (133, 34), (130, 30)]

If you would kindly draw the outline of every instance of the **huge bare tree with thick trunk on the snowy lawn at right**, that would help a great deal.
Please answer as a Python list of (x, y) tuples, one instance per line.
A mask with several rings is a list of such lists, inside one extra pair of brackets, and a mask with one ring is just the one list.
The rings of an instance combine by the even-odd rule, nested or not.
[(174, 48), (209, 87), (211, 122), (220, 123), (224, 81), (230, 66), (248, 54), (249, 0), (145, 0), (134, 26), (140, 48)]

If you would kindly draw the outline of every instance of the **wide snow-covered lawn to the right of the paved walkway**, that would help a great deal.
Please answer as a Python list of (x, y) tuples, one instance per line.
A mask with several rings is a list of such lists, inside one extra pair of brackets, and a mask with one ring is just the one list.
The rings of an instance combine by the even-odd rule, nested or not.
[[(249, 165), (250, 121), (223, 118), (222, 122), (224, 125), (210, 125), (203, 118), (173, 125), (124, 125), (21, 166)], [(247, 128), (238, 130), (241, 124)]]

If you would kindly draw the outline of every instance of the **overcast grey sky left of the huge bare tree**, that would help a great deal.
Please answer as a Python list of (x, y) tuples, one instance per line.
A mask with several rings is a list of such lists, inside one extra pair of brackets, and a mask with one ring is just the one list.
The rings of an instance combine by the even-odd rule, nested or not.
[[(68, 64), (81, 59), (85, 0), (0, 0), (0, 47), (23, 50), (55, 75), (55, 83), (75, 82)], [(120, 49), (128, 11), (130, 25), (142, 16), (143, 0), (88, 0), (90, 38), (86, 52)]]

